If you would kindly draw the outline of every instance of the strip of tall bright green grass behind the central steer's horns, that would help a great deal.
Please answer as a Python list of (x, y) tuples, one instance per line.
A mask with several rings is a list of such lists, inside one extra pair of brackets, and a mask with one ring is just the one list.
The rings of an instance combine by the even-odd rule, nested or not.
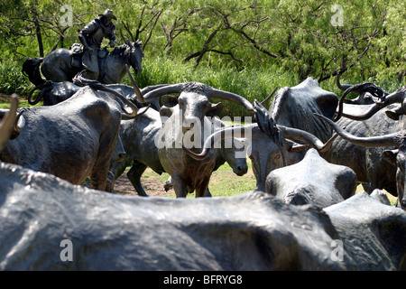
[[(157, 83), (181, 83), (198, 81), (209, 86), (234, 92), (244, 96), (249, 101), (254, 99), (263, 100), (275, 87), (295, 86), (299, 79), (290, 72), (283, 71), (276, 67), (258, 70), (237, 70), (233, 66), (213, 69), (208, 67), (195, 67), (191, 63), (168, 58), (157, 57), (143, 61), (143, 72), (134, 76), (135, 82), (140, 88)], [(124, 82), (130, 85), (129, 79)], [(213, 99), (215, 101), (215, 99)], [(245, 109), (235, 103), (223, 101), (225, 105), (223, 116), (248, 116)]]

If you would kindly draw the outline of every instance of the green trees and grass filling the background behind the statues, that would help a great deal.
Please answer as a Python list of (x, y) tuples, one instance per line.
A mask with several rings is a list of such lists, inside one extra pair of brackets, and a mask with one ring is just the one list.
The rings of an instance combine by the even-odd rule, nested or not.
[[(72, 8), (69, 25), (62, 5)], [(346, 83), (389, 91), (404, 83), (406, 4), (394, 0), (12, 0), (0, 3), (2, 90), (22, 90), (24, 59), (69, 48), (106, 8), (118, 44), (143, 41), (141, 87), (200, 81), (252, 100), (309, 76), (334, 90), (339, 71)]]

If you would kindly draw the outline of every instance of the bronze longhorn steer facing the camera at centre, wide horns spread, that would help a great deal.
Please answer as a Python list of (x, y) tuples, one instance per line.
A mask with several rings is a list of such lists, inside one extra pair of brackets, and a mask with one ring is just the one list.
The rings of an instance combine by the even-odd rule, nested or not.
[[(175, 93), (179, 95), (171, 96)], [(201, 149), (205, 138), (213, 132), (208, 117), (218, 116), (223, 107), (221, 102), (211, 103), (211, 98), (234, 101), (248, 110), (252, 110), (251, 103), (234, 93), (213, 89), (198, 82), (168, 85), (143, 96), (141, 93), (136, 95), (141, 103), (161, 98), (161, 114), (169, 116), (161, 127), (156, 145), (161, 165), (171, 175), (176, 196), (186, 197), (193, 191), (196, 191), (196, 197), (209, 195), (208, 182), (216, 165), (217, 154), (220, 154), (219, 149), (212, 148), (208, 158), (196, 161), (182, 150), (184, 136), (189, 139), (190, 149)]]

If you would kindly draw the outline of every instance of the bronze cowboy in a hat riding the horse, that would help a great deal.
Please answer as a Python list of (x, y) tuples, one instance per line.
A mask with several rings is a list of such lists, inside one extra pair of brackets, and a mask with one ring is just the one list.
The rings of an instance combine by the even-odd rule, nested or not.
[(110, 47), (115, 47), (115, 24), (112, 19), (117, 20), (113, 11), (106, 9), (104, 14), (98, 14), (98, 18), (88, 23), (79, 32), (78, 39), (83, 44), (84, 54), (82, 58), (86, 71), (83, 77), (97, 80), (99, 75), (98, 60), (99, 51), (103, 39), (110, 40)]

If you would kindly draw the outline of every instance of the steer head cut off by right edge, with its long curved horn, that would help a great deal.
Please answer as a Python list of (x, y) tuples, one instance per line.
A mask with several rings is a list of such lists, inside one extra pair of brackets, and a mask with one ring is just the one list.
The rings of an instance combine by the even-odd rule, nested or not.
[(398, 191), (398, 205), (401, 209), (406, 210), (406, 193), (404, 190), (406, 181), (406, 130), (401, 130), (389, 135), (360, 137), (347, 133), (327, 117), (317, 114), (315, 116), (326, 121), (338, 135), (351, 144), (364, 147), (395, 147), (394, 150), (385, 150), (383, 152), (383, 157), (397, 167), (396, 187)]

